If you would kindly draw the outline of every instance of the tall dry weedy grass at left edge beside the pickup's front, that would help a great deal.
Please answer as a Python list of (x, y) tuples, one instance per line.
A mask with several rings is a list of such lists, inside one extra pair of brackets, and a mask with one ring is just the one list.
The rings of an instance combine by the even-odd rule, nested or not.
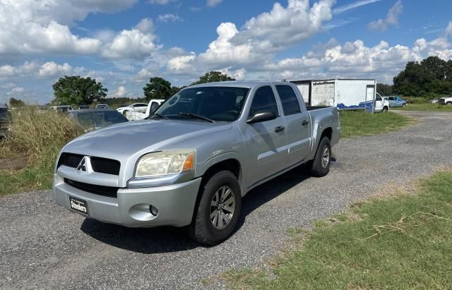
[(55, 159), (66, 143), (81, 135), (80, 127), (57, 111), (40, 113), (35, 108), (13, 111), (10, 139), (0, 142), (0, 158), (28, 157), (21, 170), (0, 170), (0, 196), (50, 188)]

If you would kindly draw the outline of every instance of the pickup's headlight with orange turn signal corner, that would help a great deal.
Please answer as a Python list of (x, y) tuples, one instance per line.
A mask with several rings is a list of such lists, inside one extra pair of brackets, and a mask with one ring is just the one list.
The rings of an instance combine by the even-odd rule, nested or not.
[(194, 150), (168, 150), (143, 155), (135, 170), (135, 177), (152, 177), (179, 174), (193, 170)]

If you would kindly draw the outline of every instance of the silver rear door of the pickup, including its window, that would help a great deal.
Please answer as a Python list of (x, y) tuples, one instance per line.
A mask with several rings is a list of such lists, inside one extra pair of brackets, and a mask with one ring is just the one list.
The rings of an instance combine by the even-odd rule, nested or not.
[(287, 167), (302, 162), (309, 155), (311, 133), (309, 113), (300, 106), (299, 97), (290, 85), (275, 85), (283, 105), (286, 124)]

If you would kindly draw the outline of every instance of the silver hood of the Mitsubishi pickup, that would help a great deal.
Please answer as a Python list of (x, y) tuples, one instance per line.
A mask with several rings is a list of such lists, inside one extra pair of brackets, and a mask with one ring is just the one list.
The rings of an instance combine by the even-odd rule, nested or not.
[[(229, 123), (200, 121), (143, 120), (121, 123), (81, 135), (62, 152), (117, 159), (125, 162), (132, 155), (143, 155), (209, 133), (232, 128)], [(180, 147), (179, 149), (183, 149)]]

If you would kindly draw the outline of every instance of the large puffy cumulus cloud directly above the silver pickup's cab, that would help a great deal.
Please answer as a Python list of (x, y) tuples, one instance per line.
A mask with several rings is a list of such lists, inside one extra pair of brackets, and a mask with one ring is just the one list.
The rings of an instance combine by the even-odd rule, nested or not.
[(268, 13), (246, 21), (238, 30), (234, 23), (221, 23), (218, 38), (210, 42), (206, 52), (174, 56), (167, 63), (169, 73), (191, 76), (208, 70), (261, 66), (293, 44), (307, 40), (331, 19), (334, 0), (320, 0), (309, 6), (309, 0), (289, 0), (287, 7), (276, 3)]

